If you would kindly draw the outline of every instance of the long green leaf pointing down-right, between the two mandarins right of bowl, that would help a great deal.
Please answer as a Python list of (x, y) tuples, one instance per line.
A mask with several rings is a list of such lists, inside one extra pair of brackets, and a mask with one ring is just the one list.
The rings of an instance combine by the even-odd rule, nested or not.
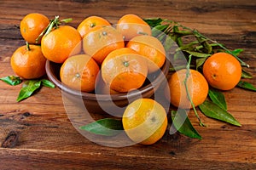
[(206, 100), (204, 103), (199, 105), (199, 108), (206, 116), (241, 127), (241, 124), (237, 122), (229, 112), (225, 111), (211, 101)]

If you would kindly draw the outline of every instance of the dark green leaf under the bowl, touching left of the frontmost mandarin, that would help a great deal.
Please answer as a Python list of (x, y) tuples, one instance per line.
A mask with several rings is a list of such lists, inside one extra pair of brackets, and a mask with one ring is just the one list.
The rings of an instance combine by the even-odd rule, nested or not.
[(112, 118), (100, 119), (96, 122), (81, 126), (79, 129), (103, 136), (114, 136), (124, 130), (122, 121)]

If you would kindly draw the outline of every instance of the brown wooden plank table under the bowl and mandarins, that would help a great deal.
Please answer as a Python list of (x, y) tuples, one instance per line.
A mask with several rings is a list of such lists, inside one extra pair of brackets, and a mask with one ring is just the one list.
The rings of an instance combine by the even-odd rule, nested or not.
[[(89, 15), (116, 22), (123, 14), (161, 17), (195, 28), (241, 55), (256, 77), (256, 2), (234, 0), (154, 1), (17, 1), (0, 5), (0, 77), (14, 75), (9, 59), (24, 44), (20, 20), (38, 12), (53, 19), (73, 18), (72, 26)], [(247, 80), (256, 86), (256, 79)], [(67, 117), (58, 88), (41, 88), (16, 102), (20, 86), (0, 82), (0, 169), (255, 169), (256, 93), (241, 88), (224, 92), (228, 111), (241, 122), (231, 126), (202, 116), (208, 127), (191, 122), (203, 139), (175, 133), (158, 143), (122, 148), (95, 144), (84, 138)]]

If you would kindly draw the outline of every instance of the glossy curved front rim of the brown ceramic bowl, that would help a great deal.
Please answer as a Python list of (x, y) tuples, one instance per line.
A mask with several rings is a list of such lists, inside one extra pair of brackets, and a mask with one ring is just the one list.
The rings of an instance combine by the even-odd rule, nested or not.
[(153, 82), (150, 82), (146, 86), (144, 86), (142, 88), (138, 88), (137, 90), (132, 90), (131, 92), (122, 93), (122, 94), (91, 94), (91, 93), (86, 93), (86, 92), (82, 92), (79, 90), (75, 90), (72, 88), (68, 88), (57, 77), (55, 77), (55, 75), (53, 73), (54, 72), (53, 68), (50, 67), (53, 64), (57, 64), (57, 63), (54, 63), (53, 61), (50, 61), (49, 59), (46, 60), (46, 64), (45, 64), (46, 74), (49, 77), (49, 80), (51, 82), (55, 83), (55, 86), (57, 86), (57, 88), (61, 89), (61, 93), (65, 92), (67, 94), (72, 94), (73, 96), (76, 96), (79, 98), (83, 97), (83, 99), (106, 101), (109, 99), (122, 100), (122, 99), (136, 97), (138, 94), (143, 95), (143, 94), (147, 93), (148, 91), (154, 89), (155, 87), (159, 86), (160, 83), (163, 82), (164, 78), (166, 78), (166, 75), (168, 74), (170, 61), (168, 59), (166, 59), (164, 65), (160, 69), (162, 74), (160, 73), (154, 79)]

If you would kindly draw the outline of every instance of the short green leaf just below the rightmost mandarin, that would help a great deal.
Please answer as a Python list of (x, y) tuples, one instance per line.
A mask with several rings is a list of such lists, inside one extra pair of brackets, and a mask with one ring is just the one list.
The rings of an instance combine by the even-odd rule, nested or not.
[(224, 94), (222, 94), (220, 91), (213, 88), (209, 89), (208, 94), (214, 104), (218, 105), (219, 107), (227, 111), (227, 104), (226, 104)]

